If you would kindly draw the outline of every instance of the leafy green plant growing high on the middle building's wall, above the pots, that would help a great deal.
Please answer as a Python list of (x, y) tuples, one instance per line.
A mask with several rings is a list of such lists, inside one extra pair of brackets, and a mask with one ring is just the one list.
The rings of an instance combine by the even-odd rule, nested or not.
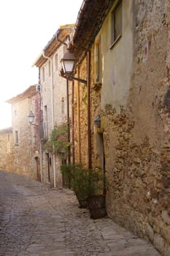
[(67, 124), (59, 124), (51, 131), (50, 140), (45, 143), (45, 149), (52, 153), (64, 153), (68, 151), (70, 143), (68, 142)]

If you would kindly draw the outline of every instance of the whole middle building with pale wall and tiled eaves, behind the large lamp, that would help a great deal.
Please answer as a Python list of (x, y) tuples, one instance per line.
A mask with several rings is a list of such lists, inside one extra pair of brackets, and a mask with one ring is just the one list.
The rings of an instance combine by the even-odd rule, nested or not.
[[(60, 60), (64, 50), (66, 50), (66, 42), (73, 28), (74, 25), (61, 26), (34, 61), (34, 65), (39, 67), (39, 82), (42, 86), (45, 142), (50, 139), (51, 132), (55, 127), (67, 122), (67, 100), (70, 105), (72, 94), (71, 88), (68, 88), (69, 91), (67, 92), (66, 80), (61, 78), (59, 71), (61, 69)], [(72, 108), (70, 108), (70, 113), (71, 110)], [(48, 151), (45, 147), (42, 150), (43, 181), (50, 182), (54, 187), (62, 187), (63, 179), (60, 171), (60, 166), (64, 160), (61, 157), (62, 154), (57, 152), (53, 154), (53, 151)]]

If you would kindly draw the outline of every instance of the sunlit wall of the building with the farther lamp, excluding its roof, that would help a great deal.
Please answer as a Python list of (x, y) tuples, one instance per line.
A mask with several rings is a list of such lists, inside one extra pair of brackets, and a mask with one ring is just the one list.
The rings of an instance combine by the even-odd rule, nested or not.
[[(12, 103), (13, 157), (12, 172), (31, 178), (36, 176), (36, 160), (39, 157), (39, 127), (28, 124), (29, 110), (36, 116), (36, 98), (20, 99)], [(18, 143), (15, 142), (15, 132), (18, 131)]]

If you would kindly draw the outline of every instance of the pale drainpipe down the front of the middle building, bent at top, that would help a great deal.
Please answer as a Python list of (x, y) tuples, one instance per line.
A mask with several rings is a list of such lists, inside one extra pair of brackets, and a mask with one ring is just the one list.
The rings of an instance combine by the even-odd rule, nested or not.
[[(52, 59), (49, 57), (45, 56), (45, 52), (42, 51), (42, 56), (45, 59), (48, 59), (50, 61), (50, 69), (51, 69), (51, 79), (50, 79), (50, 87), (51, 87), (51, 102), (52, 102), (52, 107), (51, 107), (51, 113), (52, 113), (52, 129), (54, 129), (54, 105), (53, 105), (53, 63)], [(55, 176), (55, 154), (53, 154), (53, 175), (54, 175), (54, 187), (56, 187), (56, 176)]]

